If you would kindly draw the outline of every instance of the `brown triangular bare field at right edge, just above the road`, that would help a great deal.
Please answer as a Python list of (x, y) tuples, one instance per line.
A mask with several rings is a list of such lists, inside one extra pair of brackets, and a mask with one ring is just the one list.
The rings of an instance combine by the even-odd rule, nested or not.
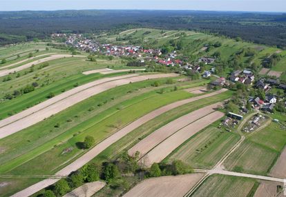
[(286, 147), (283, 149), (283, 152), (272, 167), (270, 176), (286, 178)]

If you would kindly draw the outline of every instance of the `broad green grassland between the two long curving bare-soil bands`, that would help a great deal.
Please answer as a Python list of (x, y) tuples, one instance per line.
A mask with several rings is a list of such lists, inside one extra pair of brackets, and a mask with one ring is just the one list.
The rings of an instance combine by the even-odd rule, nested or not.
[[(21, 165), (27, 160), (35, 158), (39, 156), (39, 154), (43, 154), (53, 148), (50, 152), (42, 156), (43, 159), (35, 158), (37, 163), (42, 162), (41, 167), (35, 165), (32, 172), (29, 172), (30, 168), (28, 166), (36, 164), (31, 160), (30, 163), (23, 166), (25, 169), (28, 167), (28, 169), (19, 170), (19, 172), (22, 173), (37, 173), (39, 169), (40, 174), (46, 170), (48, 170), (47, 173), (50, 173), (50, 171), (55, 168), (55, 163), (58, 164), (57, 166), (60, 166), (65, 163), (68, 158), (73, 157), (80, 151), (80, 149), (75, 148), (73, 152), (64, 155), (61, 154), (64, 149), (70, 146), (74, 147), (78, 141), (82, 141), (85, 135), (93, 135), (96, 141), (99, 142), (109, 134), (115, 132), (118, 128), (144, 115), (144, 113), (155, 110), (162, 105), (191, 96), (184, 91), (169, 92), (166, 94), (150, 92), (141, 96), (140, 92), (142, 94), (146, 91), (143, 87), (151, 85), (151, 83), (153, 82), (144, 81), (141, 83), (128, 84), (123, 87), (116, 87), (113, 90), (98, 94), (98, 96), (93, 96), (94, 98), (88, 98), (87, 101), (70, 107), (68, 110), (59, 113), (59, 115), (48, 118), (46, 121), (42, 121), (22, 132), (3, 138), (0, 142), (0, 147), (5, 149), (5, 152), (1, 154), (1, 163), (6, 163), (9, 160), (12, 160), (12, 162), (6, 163), (6, 167), (1, 165), (1, 170), (15, 168), (15, 166)], [(140, 91), (135, 91), (137, 88), (141, 88)], [(126, 92), (130, 90), (135, 92), (126, 94)], [(130, 100), (130, 98), (132, 98), (131, 96), (134, 95), (138, 96)], [(114, 99), (114, 96), (116, 96), (116, 99)], [(155, 99), (155, 102), (153, 99)], [(108, 103), (106, 105), (97, 105), (97, 103), (102, 103), (102, 101), (108, 101)], [(150, 105), (150, 102), (153, 104)], [(94, 106), (94, 110), (90, 111), (91, 106)], [(140, 106), (144, 106), (144, 110), (134, 111)], [(128, 114), (128, 116), (126, 116), (126, 114)], [(60, 124), (59, 128), (54, 127), (56, 123)], [(37, 132), (39, 130), (41, 130), (41, 133)], [(82, 132), (84, 133), (80, 134)], [(19, 145), (21, 145), (21, 149), (17, 148)], [(47, 158), (53, 157), (57, 157), (58, 159), (55, 160), (54, 158), (53, 163), (46, 163)], [(13, 170), (12, 172), (16, 173), (17, 170)]]

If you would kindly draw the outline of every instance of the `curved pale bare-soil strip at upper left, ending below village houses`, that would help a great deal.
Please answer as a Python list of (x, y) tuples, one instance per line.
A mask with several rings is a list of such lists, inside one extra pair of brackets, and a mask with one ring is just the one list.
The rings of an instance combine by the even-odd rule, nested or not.
[(11, 68), (11, 69), (8, 69), (8, 70), (1, 70), (0, 71), (0, 76), (5, 76), (5, 75), (13, 73), (13, 72), (18, 72), (20, 70), (24, 70), (26, 68), (30, 68), (32, 65), (36, 65), (36, 64), (43, 63), (43, 62), (50, 61), (50, 60), (54, 60), (54, 59), (65, 58), (65, 57), (85, 57), (85, 56), (82, 56), (82, 55), (75, 55), (75, 56), (73, 56), (73, 55), (70, 55), (70, 54), (55, 54), (55, 55), (48, 56), (48, 57), (43, 58), (43, 59), (39, 59), (39, 60), (36, 60), (36, 61), (32, 61), (30, 63), (26, 63), (24, 65), (21, 65), (21, 66), (17, 67), (17, 68)]

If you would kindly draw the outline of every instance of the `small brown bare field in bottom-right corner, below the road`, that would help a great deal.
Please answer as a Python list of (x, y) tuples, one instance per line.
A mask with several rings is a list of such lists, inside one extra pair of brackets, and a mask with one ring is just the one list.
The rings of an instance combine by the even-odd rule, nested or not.
[(254, 197), (282, 197), (282, 192), (277, 194), (277, 186), (283, 186), (281, 183), (276, 183), (272, 181), (262, 181), (258, 188), (256, 189), (256, 192), (254, 194)]

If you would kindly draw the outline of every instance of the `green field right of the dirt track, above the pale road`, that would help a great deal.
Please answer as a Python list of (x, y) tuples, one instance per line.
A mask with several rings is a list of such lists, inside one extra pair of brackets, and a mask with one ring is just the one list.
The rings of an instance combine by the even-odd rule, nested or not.
[(271, 123), (249, 136), (227, 158), (225, 167), (236, 172), (266, 175), (286, 145), (285, 131)]

